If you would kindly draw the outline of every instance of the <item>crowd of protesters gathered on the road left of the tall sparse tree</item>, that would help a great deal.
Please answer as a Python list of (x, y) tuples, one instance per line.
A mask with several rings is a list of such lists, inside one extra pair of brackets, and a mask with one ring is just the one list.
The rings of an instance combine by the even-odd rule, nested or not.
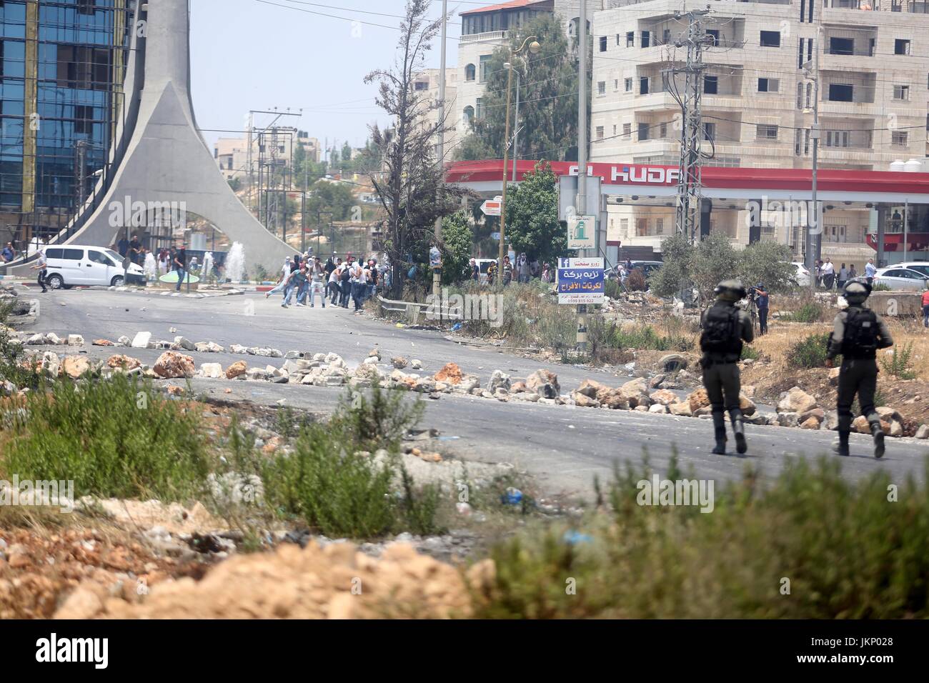
[(348, 308), (350, 299), (358, 313), (364, 302), (374, 295), (378, 283), (383, 283), (385, 275), (386, 269), (378, 266), (375, 258), (360, 262), (348, 254), (343, 261), (333, 254), (323, 264), (319, 256), (297, 255), (284, 260), (277, 286), (266, 292), (265, 297), (283, 292), (281, 307), (284, 309), (290, 307), (294, 295), (297, 306), (306, 306), (308, 298), (311, 309), (316, 305), (317, 296), (323, 309), (327, 298), (331, 306), (343, 309)]

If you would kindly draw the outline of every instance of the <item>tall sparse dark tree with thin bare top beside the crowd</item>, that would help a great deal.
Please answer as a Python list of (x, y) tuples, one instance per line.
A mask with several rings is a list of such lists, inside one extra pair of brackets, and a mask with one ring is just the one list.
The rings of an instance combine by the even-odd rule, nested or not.
[(429, 122), (429, 112), (441, 104), (414, 86), (441, 25), (440, 19), (426, 18), (431, 7), (429, 0), (408, 0), (393, 66), (371, 72), (364, 79), (365, 83), (378, 84), (377, 104), (393, 121), (389, 130), (372, 126), (373, 144), (383, 157), (383, 169), (370, 171), (386, 217), (384, 245), (390, 259), (393, 298), (401, 296), (411, 266), (417, 266), (425, 276), (429, 246), (435, 243), (436, 219), (456, 211), (462, 197), (470, 194), (464, 188), (444, 184), (433, 142), (439, 131), (447, 132), (451, 126), (447, 118)]

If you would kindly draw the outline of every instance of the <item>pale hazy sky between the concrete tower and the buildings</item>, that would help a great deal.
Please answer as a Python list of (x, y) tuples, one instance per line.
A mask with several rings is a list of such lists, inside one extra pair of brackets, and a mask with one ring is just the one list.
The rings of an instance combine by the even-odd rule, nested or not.
[[(211, 145), (240, 138), (249, 110), (300, 113), (294, 125), (341, 148), (360, 147), (368, 125), (387, 118), (374, 104), (364, 76), (393, 64), (405, 0), (190, 0), (190, 69), (197, 124)], [(441, 15), (433, 0), (430, 16)], [(492, 4), (492, 0), (487, 3)], [(483, 3), (448, 0), (452, 14), (447, 66), (455, 65), (461, 34), (458, 12)], [(321, 14), (333, 15), (331, 17)], [(383, 16), (398, 15), (398, 16)], [(341, 17), (336, 19), (334, 17)], [(373, 25), (380, 24), (380, 25)], [(427, 67), (439, 63), (438, 38)], [(273, 116), (256, 116), (268, 125)], [(220, 132), (235, 131), (235, 132)]]

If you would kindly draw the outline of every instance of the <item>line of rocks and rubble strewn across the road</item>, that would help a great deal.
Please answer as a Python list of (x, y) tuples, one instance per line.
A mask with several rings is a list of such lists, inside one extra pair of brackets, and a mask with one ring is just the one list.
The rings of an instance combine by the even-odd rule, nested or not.
[[(39, 342), (38, 340), (41, 340)], [(80, 335), (69, 335), (66, 340), (57, 335), (33, 335), (26, 344), (83, 344)], [(300, 384), (314, 387), (370, 387), (376, 380), (386, 388), (409, 389), (428, 395), (431, 399), (440, 398), (441, 394), (465, 394), (468, 396), (492, 399), (496, 401), (529, 401), (545, 405), (572, 405), (580, 408), (601, 408), (607, 410), (628, 410), (650, 414), (670, 414), (676, 417), (711, 416), (710, 400), (704, 389), (698, 389), (682, 398), (671, 390), (680, 387), (672, 381), (664, 381), (664, 375), (657, 375), (650, 381), (643, 377), (630, 380), (620, 387), (609, 387), (601, 382), (586, 379), (581, 386), (570, 393), (562, 393), (558, 377), (549, 370), (537, 370), (526, 378), (514, 378), (502, 370), (494, 370), (483, 384), (476, 374), (463, 373), (453, 363), (447, 363), (438, 373), (422, 374), (406, 372), (406, 368), (423, 370), (422, 361), (396, 356), (385, 361), (381, 351), (374, 348), (368, 356), (354, 368), (337, 353), (311, 353), (307, 351), (287, 351), (276, 348), (246, 348), (232, 345), (229, 351), (256, 358), (283, 358), (280, 366), (265, 364), (250, 367), (246, 361), (236, 361), (227, 368), (218, 362), (204, 362), (199, 369), (193, 358), (182, 353), (183, 350), (199, 352), (220, 352), (225, 349), (214, 342), (193, 343), (178, 336), (173, 342), (152, 342), (149, 333), (138, 333), (129, 340), (121, 337), (117, 342), (98, 340), (98, 346), (164, 348), (154, 365), (149, 367), (141, 361), (125, 355), (113, 355), (107, 361), (93, 361), (85, 356), (69, 355), (59, 359), (53, 351), (45, 351), (40, 356), (32, 356), (37, 370), (52, 377), (59, 374), (78, 378), (85, 374), (99, 375), (104, 378), (117, 373), (140, 374), (153, 379), (238, 379), (251, 381), (269, 381), (278, 384)], [(687, 361), (679, 354), (662, 358), (662, 366), (668, 366), (672, 359), (678, 363), (676, 372), (685, 372), (682, 366)], [(173, 393), (183, 393), (180, 387), (169, 387)], [(11, 387), (7, 387), (11, 393)], [(818, 405), (818, 400), (807, 394), (800, 387), (793, 387), (780, 397), (777, 412), (762, 414), (752, 401), (752, 387), (745, 387), (740, 397), (741, 411), (746, 420), (755, 425), (774, 427), (800, 427), (804, 429), (835, 429), (838, 416), (834, 410), (826, 410)], [(878, 409), (882, 417), (884, 431), (890, 436), (916, 436), (929, 438), (929, 426), (905, 427), (905, 420), (893, 408)], [(855, 421), (855, 429), (868, 433), (868, 424), (863, 417)]]

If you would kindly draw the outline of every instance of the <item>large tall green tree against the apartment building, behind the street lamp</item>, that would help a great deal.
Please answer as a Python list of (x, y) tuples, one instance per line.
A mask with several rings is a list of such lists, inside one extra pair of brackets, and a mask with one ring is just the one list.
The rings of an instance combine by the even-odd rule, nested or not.
[[(504, 63), (530, 35), (537, 36), (542, 51), (517, 55), (519, 83), (519, 157), (577, 161), (578, 69), (576, 52), (569, 48), (561, 20), (544, 14), (516, 31), (508, 45), (498, 47), (486, 67), (487, 85), (480, 119), (473, 119), (472, 133), (462, 141), (456, 157), (463, 160), (499, 159), (506, 136), (506, 85)], [(477, 65), (476, 65), (477, 66)], [(512, 100), (517, 79), (513, 77)], [(588, 111), (589, 117), (589, 111)]]

